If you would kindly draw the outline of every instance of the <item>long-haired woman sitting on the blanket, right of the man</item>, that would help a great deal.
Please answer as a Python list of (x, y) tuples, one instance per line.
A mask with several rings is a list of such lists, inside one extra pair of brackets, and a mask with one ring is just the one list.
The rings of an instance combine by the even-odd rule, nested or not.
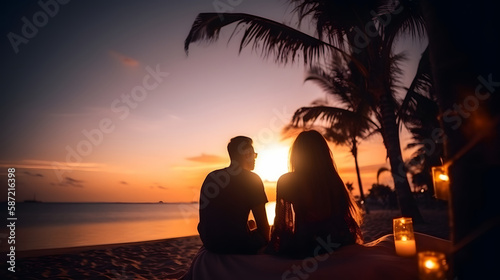
[(276, 218), (268, 251), (304, 258), (318, 242), (362, 243), (360, 209), (340, 178), (330, 148), (315, 131), (301, 132), (290, 151), (291, 172), (277, 183)]

